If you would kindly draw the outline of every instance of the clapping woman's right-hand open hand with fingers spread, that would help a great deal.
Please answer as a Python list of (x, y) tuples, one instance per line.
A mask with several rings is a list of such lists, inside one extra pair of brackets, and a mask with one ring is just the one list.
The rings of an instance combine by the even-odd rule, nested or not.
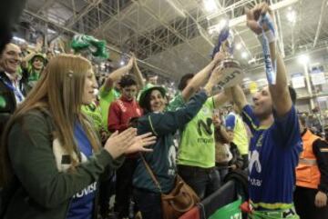
[(138, 135), (134, 139), (134, 143), (128, 147), (128, 150), (125, 154), (133, 154), (136, 152), (152, 152), (152, 149), (146, 148), (151, 144), (156, 143), (156, 136), (153, 136), (152, 133)]

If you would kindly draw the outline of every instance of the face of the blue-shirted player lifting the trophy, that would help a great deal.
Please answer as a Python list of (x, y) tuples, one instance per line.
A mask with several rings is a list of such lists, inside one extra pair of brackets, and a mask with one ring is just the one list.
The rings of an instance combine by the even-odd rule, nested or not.
[(269, 87), (264, 87), (252, 97), (254, 114), (260, 118), (267, 118), (272, 114), (272, 97)]

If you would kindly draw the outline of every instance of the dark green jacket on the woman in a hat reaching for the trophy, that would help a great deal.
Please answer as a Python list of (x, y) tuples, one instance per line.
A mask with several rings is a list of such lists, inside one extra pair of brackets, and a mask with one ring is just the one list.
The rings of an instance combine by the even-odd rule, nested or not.
[[(138, 134), (152, 132), (157, 136), (156, 144), (152, 146), (153, 152), (146, 153), (144, 156), (157, 177), (163, 193), (169, 193), (175, 182), (176, 148), (173, 143), (173, 134), (198, 114), (207, 98), (204, 92), (200, 92), (194, 95), (185, 107), (179, 108), (177, 111), (149, 113), (138, 119)], [(159, 193), (159, 189), (150, 178), (140, 158), (137, 163), (133, 175), (133, 185)]]

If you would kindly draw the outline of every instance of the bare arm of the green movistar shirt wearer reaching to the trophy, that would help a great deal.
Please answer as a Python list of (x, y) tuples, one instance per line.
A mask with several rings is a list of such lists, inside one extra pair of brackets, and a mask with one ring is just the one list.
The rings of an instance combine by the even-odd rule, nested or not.
[(218, 65), (223, 58), (223, 53), (220, 52), (216, 54), (209, 65), (206, 65), (199, 73), (192, 77), (190, 83), (182, 91), (182, 98), (185, 102), (188, 102), (190, 97), (200, 89), (200, 86), (206, 83), (214, 67)]

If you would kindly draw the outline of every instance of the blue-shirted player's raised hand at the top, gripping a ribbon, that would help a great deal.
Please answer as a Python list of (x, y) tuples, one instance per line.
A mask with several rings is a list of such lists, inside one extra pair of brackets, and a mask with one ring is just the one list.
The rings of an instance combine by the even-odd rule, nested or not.
[[(270, 9), (269, 5), (266, 3), (261, 3), (259, 5), (255, 5), (253, 8), (251, 8), (251, 10), (248, 8), (246, 8), (245, 10), (247, 26), (250, 27), (251, 31), (254, 32), (256, 35), (260, 35), (262, 32), (262, 27), (258, 23), (260, 15), (269, 13), (272, 18), (272, 10)], [(264, 31), (268, 30), (268, 26), (263, 25), (263, 29)]]

